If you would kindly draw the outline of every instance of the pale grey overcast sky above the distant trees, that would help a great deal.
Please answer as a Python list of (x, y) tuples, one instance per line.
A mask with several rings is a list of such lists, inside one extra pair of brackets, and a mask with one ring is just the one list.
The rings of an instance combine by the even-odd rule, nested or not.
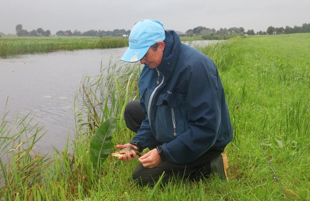
[(160, 20), (166, 29), (185, 32), (197, 26), (243, 27), (266, 31), (268, 26), (310, 23), (310, 0), (1, 0), (0, 32), (23, 29), (78, 31), (130, 29), (142, 19)]

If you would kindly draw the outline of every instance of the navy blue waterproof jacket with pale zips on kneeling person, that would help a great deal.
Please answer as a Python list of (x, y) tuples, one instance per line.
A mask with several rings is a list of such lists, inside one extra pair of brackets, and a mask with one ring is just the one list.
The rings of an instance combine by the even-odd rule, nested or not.
[(189, 163), (232, 140), (232, 125), (214, 62), (166, 32), (161, 64), (145, 65), (139, 98), (146, 115), (133, 138), (142, 149), (162, 145), (166, 160)]

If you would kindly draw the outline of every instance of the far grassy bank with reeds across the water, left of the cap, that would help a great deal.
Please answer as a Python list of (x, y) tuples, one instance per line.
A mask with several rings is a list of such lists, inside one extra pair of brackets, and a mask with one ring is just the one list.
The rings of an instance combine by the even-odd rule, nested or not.
[(0, 37), (0, 57), (58, 50), (103, 49), (128, 46), (127, 38), (99, 37)]

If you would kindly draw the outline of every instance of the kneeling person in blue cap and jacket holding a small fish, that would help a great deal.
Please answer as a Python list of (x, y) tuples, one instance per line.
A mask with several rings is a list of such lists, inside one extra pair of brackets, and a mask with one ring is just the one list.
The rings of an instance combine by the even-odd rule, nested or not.
[[(210, 174), (227, 180), (228, 161), (221, 153), (232, 140), (232, 125), (214, 62), (156, 20), (135, 24), (121, 60), (144, 64), (139, 101), (129, 102), (124, 114), (137, 134), (117, 145), (150, 150), (138, 158), (133, 179), (154, 186), (165, 172), (164, 183), (174, 176), (192, 180)], [(119, 159), (132, 157), (134, 151)]]

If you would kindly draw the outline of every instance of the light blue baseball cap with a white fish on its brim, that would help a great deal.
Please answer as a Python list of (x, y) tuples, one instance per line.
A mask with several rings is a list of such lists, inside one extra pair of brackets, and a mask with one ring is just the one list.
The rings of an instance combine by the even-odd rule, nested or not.
[(150, 46), (166, 38), (163, 24), (157, 20), (141, 20), (132, 28), (128, 43), (129, 48), (121, 60), (137, 62), (144, 57)]

